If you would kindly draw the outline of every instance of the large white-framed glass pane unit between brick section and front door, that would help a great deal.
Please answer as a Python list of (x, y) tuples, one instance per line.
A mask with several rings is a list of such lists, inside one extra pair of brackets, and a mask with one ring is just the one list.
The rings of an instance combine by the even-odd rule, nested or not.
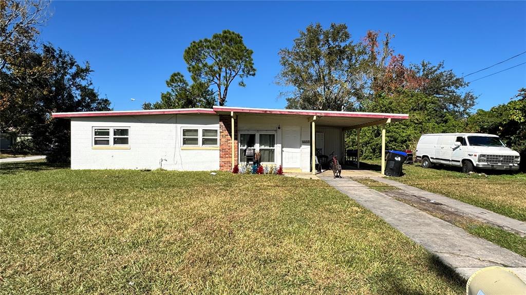
[(276, 163), (276, 132), (274, 131), (241, 131), (239, 133), (239, 163), (252, 164), (254, 154), (261, 153), (262, 164)]

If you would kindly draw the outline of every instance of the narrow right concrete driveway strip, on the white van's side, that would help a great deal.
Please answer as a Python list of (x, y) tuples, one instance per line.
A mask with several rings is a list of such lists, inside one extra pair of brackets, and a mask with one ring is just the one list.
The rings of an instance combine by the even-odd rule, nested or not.
[(391, 186), (396, 186), (402, 189), (404, 192), (407, 192), (414, 196), (421, 196), (429, 200), (434, 200), (439, 203), (442, 203), (446, 206), (451, 207), (458, 212), (464, 213), (474, 219), (478, 219), (481, 222), (493, 224), (495, 226), (501, 227), (503, 229), (517, 233), (521, 237), (526, 236), (526, 223), (517, 219), (513, 219), (507, 216), (503, 216), (497, 213), (494, 213), (490, 210), (482, 209), (477, 206), (466, 204), (464, 202), (457, 201), (456, 199), (448, 198), (443, 195), (430, 193), (424, 191), (423, 189), (416, 188), (407, 184), (403, 184), (391, 179), (382, 178), (382, 177), (370, 177), (372, 180), (379, 181)]

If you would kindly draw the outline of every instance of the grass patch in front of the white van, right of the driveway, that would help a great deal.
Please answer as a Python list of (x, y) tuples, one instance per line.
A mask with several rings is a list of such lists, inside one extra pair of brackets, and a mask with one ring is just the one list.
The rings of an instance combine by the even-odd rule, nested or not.
[[(364, 161), (366, 168), (379, 170), (380, 161)], [(401, 183), (442, 194), (459, 201), (526, 222), (526, 174), (464, 174), (460, 168), (438, 166), (424, 169), (419, 165), (403, 165)], [(484, 172), (484, 171), (482, 171)]]

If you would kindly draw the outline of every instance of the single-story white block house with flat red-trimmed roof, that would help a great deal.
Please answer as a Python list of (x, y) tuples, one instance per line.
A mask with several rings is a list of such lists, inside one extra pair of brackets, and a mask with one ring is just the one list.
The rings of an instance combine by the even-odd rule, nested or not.
[(312, 144), (342, 160), (343, 131), (408, 119), (407, 114), (231, 107), (53, 117), (71, 120), (72, 169), (229, 171), (260, 151), (262, 164), (298, 172), (314, 170)]

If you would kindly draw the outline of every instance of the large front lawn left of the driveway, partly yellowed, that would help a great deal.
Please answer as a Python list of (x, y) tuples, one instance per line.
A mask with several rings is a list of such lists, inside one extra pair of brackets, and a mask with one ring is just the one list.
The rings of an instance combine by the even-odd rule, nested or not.
[(325, 183), (1, 166), (0, 293), (461, 294)]

